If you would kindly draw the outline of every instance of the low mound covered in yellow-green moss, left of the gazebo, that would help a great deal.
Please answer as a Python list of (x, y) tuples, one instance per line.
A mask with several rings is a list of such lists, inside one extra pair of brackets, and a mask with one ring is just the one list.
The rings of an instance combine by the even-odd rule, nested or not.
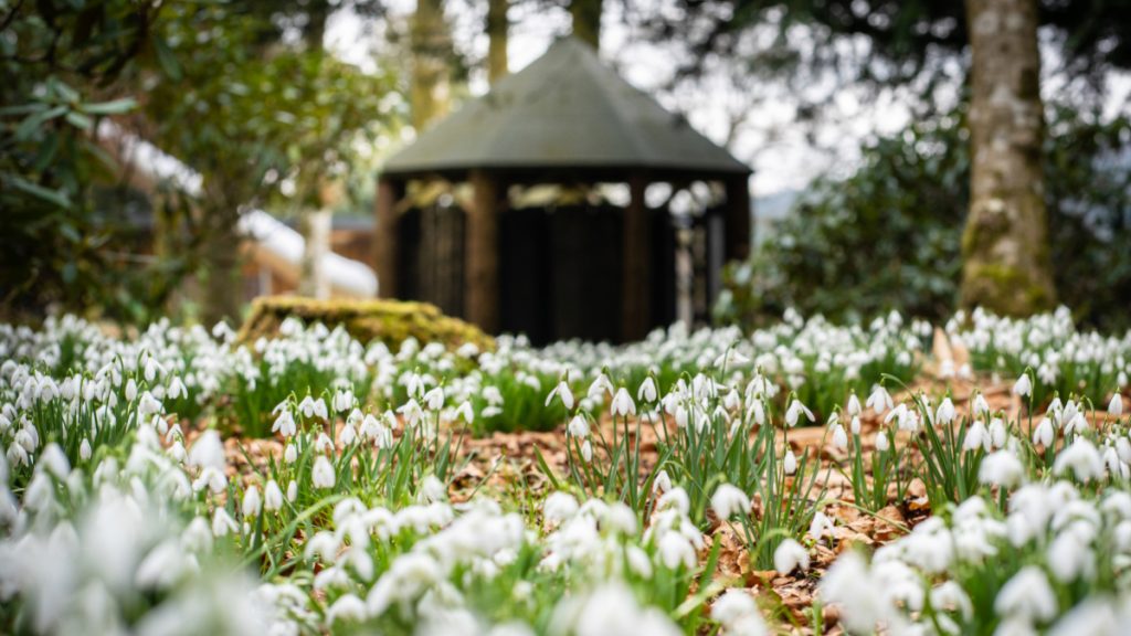
[(240, 328), (240, 340), (254, 342), (260, 337), (274, 337), (288, 317), (308, 325), (321, 323), (331, 329), (340, 325), (359, 342), (368, 344), (378, 340), (392, 351), (409, 337), (415, 337), (421, 344), (442, 342), (451, 349), (465, 343), (473, 343), (481, 351), (494, 349), (494, 340), (478, 327), (444, 316), (435, 306), (425, 302), (313, 300), (301, 296), (256, 299)]

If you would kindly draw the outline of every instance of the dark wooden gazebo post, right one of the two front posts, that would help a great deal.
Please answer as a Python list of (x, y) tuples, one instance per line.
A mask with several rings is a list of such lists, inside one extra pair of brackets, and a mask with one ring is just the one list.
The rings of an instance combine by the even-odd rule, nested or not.
[(638, 341), (648, 333), (651, 321), (651, 232), (644, 199), (648, 181), (634, 174), (629, 179), (629, 206), (624, 209), (623, 283), (621, 285), (621, 338)]

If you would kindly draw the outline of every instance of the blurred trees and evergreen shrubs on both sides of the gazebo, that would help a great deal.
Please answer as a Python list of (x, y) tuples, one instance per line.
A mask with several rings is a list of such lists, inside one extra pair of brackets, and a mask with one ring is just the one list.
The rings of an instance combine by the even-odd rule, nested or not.
[[(996, 53), (996, 70), (982, 53), (1000, 29), (985, 19), (977, 37), (984, 11), (1033, 26)], [(343, 14), (370, 27), (370, 63), (327, 49)], [(602, 45), (614, 65), (623, 46), (610, 42), (648, 42), (675, 69), (658, 88), (665, 103), (728, 102), (719, 141), (737, 144), (760, 124), (757, 108), (783, 95), (793, 119), (769, 129), (829, 124), (847, 88), (865, 108), (887, 95), (909, 113), (903, 130), (862, 136), (860, 160), (805, 187), (729, 269), (722, 319), (791, 306), (939, 318), (961, 302), (1057, 301), (1097, 325), (1129, 320), (1131, 132), (1111, 87), (1131, 68), (1121, 0), (0, 0), (6, 312), (234, 317), (243, 210), (297, 217), (308, 233), (327, 209), (368, 214), (381, 153), (506, 76), (515, 29), (532, 20)], [(1013, 112), (1029, 115), (979, 117), (1005, 84)], [(138, 179), (97, 134), (107, 121), (183, 162), (199, 188)], [(979, 138), (1008, 146), (998, 167), (972, 161)], [(979, 171), (986, 186), (972, 189)], [(1039, 293), (1013, 294), (1031, 285), (993, 275), (1007, 252)], [(1004, 302), (1017, 299), (1029, 304)]]

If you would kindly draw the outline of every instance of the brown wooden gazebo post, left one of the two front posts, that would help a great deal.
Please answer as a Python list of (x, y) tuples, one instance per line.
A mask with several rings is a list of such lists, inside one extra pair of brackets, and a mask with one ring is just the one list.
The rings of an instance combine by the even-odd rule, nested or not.
[(489, 334), (499, 330), (499, 197), (495, 177), (472, 171), (473, 200), (467, 210), (465, 318)]

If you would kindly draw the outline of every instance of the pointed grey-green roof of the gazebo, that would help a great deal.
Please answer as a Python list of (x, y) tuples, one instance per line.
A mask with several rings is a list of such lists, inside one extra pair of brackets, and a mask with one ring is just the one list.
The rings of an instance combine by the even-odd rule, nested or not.
[(477, 169), (750, 173), (572, 37), (425, 130), (383, 172), (459, 177)]

